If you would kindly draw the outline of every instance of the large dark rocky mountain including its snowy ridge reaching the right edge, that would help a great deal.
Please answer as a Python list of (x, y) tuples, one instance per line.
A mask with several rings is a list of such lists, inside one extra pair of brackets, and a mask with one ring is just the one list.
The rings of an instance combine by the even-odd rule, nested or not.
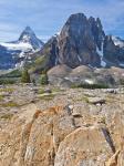
[(106, 35), (99, 18), (72, 14), (54, 40), (48, 42), (50, 50), (45, 54), (51, 56), (52, 66), (124, 66), (124, 41)]

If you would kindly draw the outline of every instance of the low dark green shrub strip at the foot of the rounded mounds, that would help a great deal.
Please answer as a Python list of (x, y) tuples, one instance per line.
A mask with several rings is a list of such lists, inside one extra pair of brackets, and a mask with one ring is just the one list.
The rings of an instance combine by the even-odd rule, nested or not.
[(95, 90), (95, 89), (108, 89), (108, 85), (106, 85), (106, 84), (80, 84), (80, 85), (73, 84), (71, 87), (72, 89), (82, 87), (82, 89)]

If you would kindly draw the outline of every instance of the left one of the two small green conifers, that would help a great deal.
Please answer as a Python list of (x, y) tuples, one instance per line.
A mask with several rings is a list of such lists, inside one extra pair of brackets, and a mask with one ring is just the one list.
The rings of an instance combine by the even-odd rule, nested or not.
[(21, 82), (22, 82), (22, 83), (30, 83), (30, 82), (31, 82), (31, 80), (30, 80), (30, 74), (29, 74), (29, 72), (28, 72), (27, 69), (23, 70), (23, 72), (22, 72)]

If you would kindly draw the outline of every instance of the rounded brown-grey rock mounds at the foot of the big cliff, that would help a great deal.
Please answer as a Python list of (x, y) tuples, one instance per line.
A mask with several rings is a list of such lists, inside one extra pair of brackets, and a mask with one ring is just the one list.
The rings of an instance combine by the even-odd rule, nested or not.
[(101, 84), (113, 85), (123, 84), (124, 69), (93, 69), (85, 65), (71, 69), (66, 65), (56, 65), (48, 71), (50, 84), (58, 85), (81, 85), (81, 84)]

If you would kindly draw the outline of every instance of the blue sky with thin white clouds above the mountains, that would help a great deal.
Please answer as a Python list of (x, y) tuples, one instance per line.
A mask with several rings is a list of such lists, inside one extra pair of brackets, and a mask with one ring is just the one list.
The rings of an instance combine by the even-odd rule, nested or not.
[(124, 0), (0, 0), (0, 42), (17, 40), (27, 25), (46, 41), (76, 12), (100, 17), (106, 33), (124, 38)]

